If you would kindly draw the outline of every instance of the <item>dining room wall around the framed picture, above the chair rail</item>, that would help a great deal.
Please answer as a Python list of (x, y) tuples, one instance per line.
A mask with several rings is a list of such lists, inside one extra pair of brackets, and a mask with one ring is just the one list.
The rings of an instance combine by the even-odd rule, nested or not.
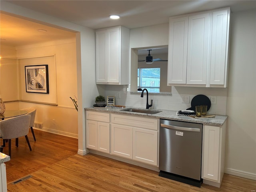
[[(57, 103), (58, 106), (72, 107), (69, 98), (77, 97), (76, 78), (76, 39), (44, 42), (18, 47), (17, 58), (20, 62), (21, 98), (40, 102)], [(26, 93), (24, 86), (24, 66), (48, 64), (49, 94)], [(28, 98), (28, 99), (26, 99)]]

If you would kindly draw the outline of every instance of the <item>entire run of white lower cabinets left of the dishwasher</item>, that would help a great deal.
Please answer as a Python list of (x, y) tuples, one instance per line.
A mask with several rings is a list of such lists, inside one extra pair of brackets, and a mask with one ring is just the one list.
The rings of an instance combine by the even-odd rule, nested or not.
[(86, 111), (86, 148), (158, 165), (159, 120)]

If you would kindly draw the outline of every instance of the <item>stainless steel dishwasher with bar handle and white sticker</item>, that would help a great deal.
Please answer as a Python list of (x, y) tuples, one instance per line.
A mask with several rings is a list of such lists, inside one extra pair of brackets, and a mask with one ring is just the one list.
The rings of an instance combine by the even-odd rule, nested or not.
[(160, 119), (159, 176), (201, 186), (202, 124)]

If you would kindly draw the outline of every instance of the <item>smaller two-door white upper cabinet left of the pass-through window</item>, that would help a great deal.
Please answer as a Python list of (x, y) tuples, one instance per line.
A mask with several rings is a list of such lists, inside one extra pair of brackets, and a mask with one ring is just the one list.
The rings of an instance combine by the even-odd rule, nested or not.
[(97, 84), (129, 84), (129, 38), (122, 26), (96, 30)]

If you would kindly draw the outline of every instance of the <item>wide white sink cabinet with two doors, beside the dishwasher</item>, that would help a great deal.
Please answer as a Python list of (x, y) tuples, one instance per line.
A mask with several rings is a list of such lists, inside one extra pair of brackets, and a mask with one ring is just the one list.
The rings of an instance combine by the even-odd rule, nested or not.
[(158, 119), (111, 114), (111, 153), (158, 165)]

